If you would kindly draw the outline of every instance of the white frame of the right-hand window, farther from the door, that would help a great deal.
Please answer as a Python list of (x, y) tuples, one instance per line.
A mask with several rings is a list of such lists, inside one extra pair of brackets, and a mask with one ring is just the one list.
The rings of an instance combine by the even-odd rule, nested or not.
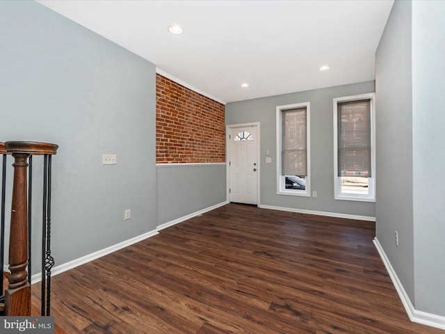
[[(341, 192), (341, 177), (339, 177), (338, 165), (338, 104), (341, 102), (353, 102), (359, 100), (371, 100), (371, 177), (368, 180), (368, 194), (353, 194)], [(375, 202), (375, 93), (353, 95), (334, 98), (334, 198), (336, 200), (356, 200), (361, 202)]]

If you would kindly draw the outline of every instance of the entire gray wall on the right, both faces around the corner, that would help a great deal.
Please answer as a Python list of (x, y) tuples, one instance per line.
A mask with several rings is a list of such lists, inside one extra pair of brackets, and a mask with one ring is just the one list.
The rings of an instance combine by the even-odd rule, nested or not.
[(443, 1), (395, 1), (375, 65), (376, 234), (414, 308), (442, 317), (444, 17)]

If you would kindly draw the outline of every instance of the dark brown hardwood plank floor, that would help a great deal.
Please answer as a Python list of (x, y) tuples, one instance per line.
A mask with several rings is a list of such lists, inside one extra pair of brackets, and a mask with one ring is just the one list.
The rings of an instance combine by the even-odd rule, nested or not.
[(225, 205), (54, 276), (51, 315), (66, 333), (443, 334), (408, 319), (374, 235)]

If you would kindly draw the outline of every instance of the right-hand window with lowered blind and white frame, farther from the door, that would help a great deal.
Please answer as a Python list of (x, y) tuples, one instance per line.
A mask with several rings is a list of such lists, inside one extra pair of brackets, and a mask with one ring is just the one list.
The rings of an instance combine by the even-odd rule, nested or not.
[(375, 201), (374, 94), (334, 99), (337, 200)]

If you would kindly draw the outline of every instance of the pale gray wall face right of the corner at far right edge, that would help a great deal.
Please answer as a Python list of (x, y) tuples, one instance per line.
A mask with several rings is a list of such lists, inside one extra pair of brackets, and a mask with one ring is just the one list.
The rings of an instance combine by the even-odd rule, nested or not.
[(445, 2), (412, 4), (414, 283), (417, 310), (445, 316)]

